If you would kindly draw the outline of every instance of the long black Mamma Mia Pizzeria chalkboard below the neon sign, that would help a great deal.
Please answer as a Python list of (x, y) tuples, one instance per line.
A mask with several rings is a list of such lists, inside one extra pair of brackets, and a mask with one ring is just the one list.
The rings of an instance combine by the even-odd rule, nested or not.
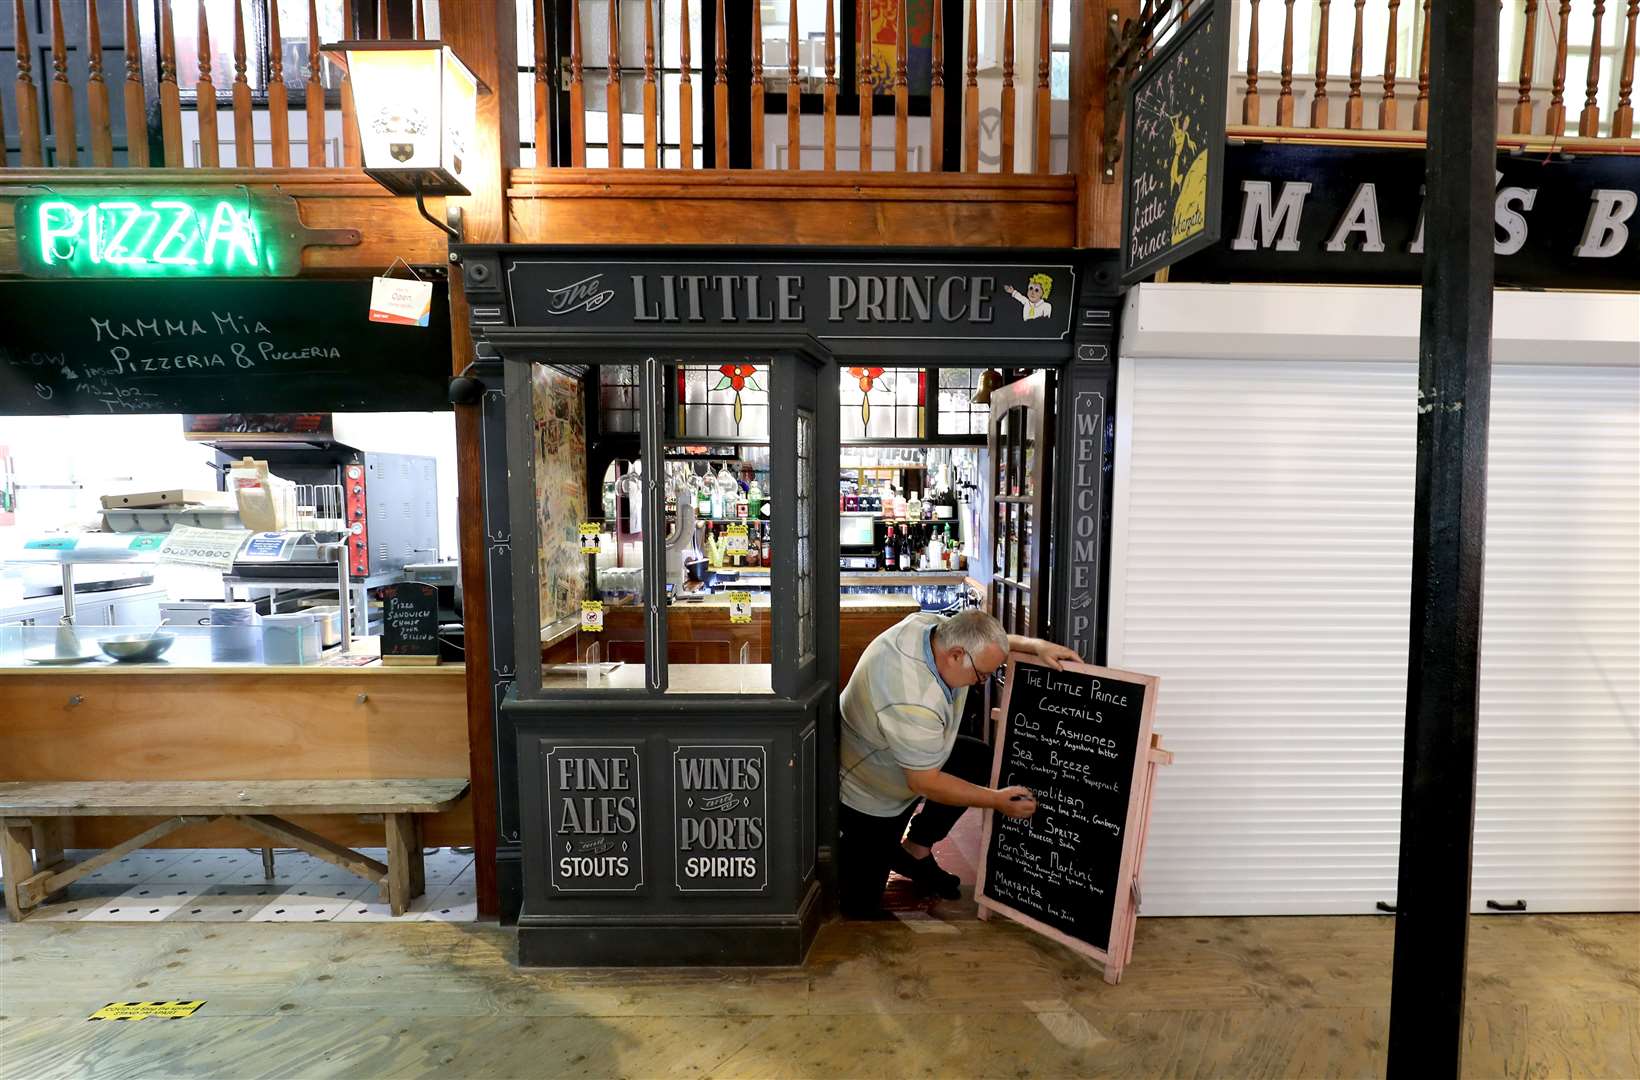
[(369, 320), (371, 284), (0, 284), (0, 416), (449, 408), (449, 303)]

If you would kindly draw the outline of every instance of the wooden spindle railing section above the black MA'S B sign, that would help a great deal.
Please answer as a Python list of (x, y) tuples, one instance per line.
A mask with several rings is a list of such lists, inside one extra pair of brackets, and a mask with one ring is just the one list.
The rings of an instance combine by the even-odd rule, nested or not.
[[(1450, 0), (1373, 0), (1378, 8), (1373, 11), (1373, 23), (1383, 33), (1374, 41), (1368, 39), (1366, 29), (1368, 0), (1353, 0), (1351, 7), (1345, 7), (1342, 0), (1337, 7), (1343, 11), (1338, 13), (1332, 10), (1332, 0), (1305, 0), (1302, 5), (1294, 0), (1240, 0), (1238, 44), (1245, 46), (1240, 49), (1245, 67), (1232, 75), (1232, 123), (1240, 118), (1245, 128), (1273, 126), (1292, 129), (1294, 134), (1322, 133), (1327, 138), (1338, 138), (1340, 133), (1383, 136), (1397, 131), (1415, 136), (1425, 131), (1430, 110), (1425, 29), (1432, 18), (1432, 2), (1433, 18), (1440, 18), (1440, 5)], [(1602, 41), (1609, 2), (1627, 8), (1619, 8), (1615, 20), (1617, 33), (1622, 34), (1620, 52), (1619, 41)], [(1260, 41), (1260, 10), (1278, 3), (1282, 7), (1281, 59), (1279, 67), (1271, 70), (1261, 66), (1273, 61), (1276, 52), (1261, 52), (1271, 46)], [(1502, 0), (1502, 5), (1510, 16), (1506, 26), (1519, 29), (1520, 46), (1519, 59), (1510, 56), (1499, 72), (1501, 141), (1632, 139), (1635, 21), (1640, 0)], [(1304, 16), (1297, 21), (1297, 39), (1296, 7)], [(1378, 18), (1379, 13), (1384, 18)], [(1519, 20), (1514, 20), (1515, 13)], [(1335, 20), (1335, 15), (1343, 18)], [(1405, 34), (1407, 29), (1412, 33)], [(1328, 43), (1337, 34), (1348, 34), (1350, 41), (1346, 82), (1345, 72), (1328, 70)], [(1404, 39), (1415, 43), (1407, 52), (1402, 52)], [(1573, 46), (1573, 41), (1578, 44)], [(1512, 49), (1510, 38), (1506, 36), (1506, 43)], [(1363, 74), (1379, 46), (1379, 74)], [(1576, 51), (1588, 61), (1583, 107), (1574, 120), (1571, 111), (1576, 110), (1576, 102), (1568, 102), (1566, 87), (1568, 51)], [(1606, 84), (1609, 123), (1602, 123), (1602, 56), (1615, 61), (1615, 77)], [(1297, 108), (1297, 95), (1304, 93), (1309, 97), (1307, 110)], [(1576, 87), (1569, 93), (1574, 95)], [(1340, 97), (1342, 107), (1335, 100)], [(1376, 108), (1369, 108), (1369, 98), (1376, 98)], [(1619, 147), (1614, 144), (1612, 149)]]

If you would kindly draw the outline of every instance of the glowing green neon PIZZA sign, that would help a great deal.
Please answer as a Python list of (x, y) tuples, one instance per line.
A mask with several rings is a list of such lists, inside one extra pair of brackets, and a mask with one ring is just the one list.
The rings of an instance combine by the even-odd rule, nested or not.
[(244, 195), (43, 195), (16, 202), (18, 256), (36, 277), (269, 277), (259, 206)]

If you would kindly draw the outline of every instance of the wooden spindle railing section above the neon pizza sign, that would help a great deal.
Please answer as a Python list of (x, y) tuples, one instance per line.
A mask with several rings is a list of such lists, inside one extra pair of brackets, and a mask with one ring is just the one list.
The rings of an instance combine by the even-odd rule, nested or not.
[[(5, 2), (5, 0), (0, 0)], [(154, 56), (144, 57), (141, 26), (138, 23), (138, 8), (141, 3), (157, 2), (157, 49)], [(364, 0), (369, 2), (369, 0)], [(382, 0), (377, 8), (377, 26), (387, 25), (387, 5)], [(412, 0), (413, 18), (417, 33), (423, 26), (423, 2)], [(80, 3), (85, 11), (85, 41), (71, 43), (66, 33), (64, 8), (69, 3)], [(354, 3), (356, 0), (343, 0), (343, 11), (348, 26), (354, 26)], [(25, 169), (38, 169), (43, 166), (59, 166), (59, 167), (112, 167), (115, 166), (115, 139), (113, 125), (110, 121), (110, 87), (112, 79), (118, 79), (120, 72), (110, 72), (103, 66), (103, 46), (102, 46), (102, 25), (100, 11), (95, 0), (51, 0), (48, 5), (49, 11), (49, 28), (51, 28), (51, 87), (49, 87), (49, 103), (51, 103), (51, 156), (48, 162), (48, 143), (43, 138), (43, 125), (39, 113), (39, 88), (34, 82), (34, 52), (31, 49), (30, 39), (30, 20), (28, 10), (33, 8), (33, 0), (11, 0), (11, 15), (15, 20), (15, 46), (16, 46), (16, 80), (13, 87), (11, 102), (16, 108), (16, 126), (18, 126), (18, 152), (16, 164)], [(269, 29), (269, 41), (274, 48), (269, 49), (269, 69), (267, 69), (267, 88), (261, 102), (254, 100), (251, 85), (246, 79), (246, 10), (253, 10), (254, 15), (266, 18)], [(317, 0), (307, 0), (308, 8), (308, 33), (307, 33), (307, 85), (302, 100), (303, 111), (307, 113), (307, 146), (308, 146), (308, 166), (323, 167), (326, 164), (336, 166), (358, 166), (359, 164), (359, 136), (358, 125), (354, 123), (353, 113), (353, 87), (346, 79), (346, 74), (339, 80), (339, 103), (343, 113), (341, 125), (341, 154), (338, 162), (326, 162), (323, 147), (326, 144), (326, 128), (325, 128), (325, 84), (323, 84), (323, 59), (320, 54), (320, 34), (318, 34), (318, 3)], [(121, 80), (121, 93), (125, 105), (125, 144), (126, 159), (121, 164), (131, 167), (148, 167), (148, 166), (164, 166), (164, 167), (182, 167), (184, 164), (195, 164), (200, 167), (220, 167), (221, 166), (221, 133), (218, 131), (218, 93), (228, 92), (230, 108), (233, 111), (231, 126), (231, 144), (233, 144), (233, 166), (251, 167), (254, 164), (256, 152), (256, 136), (254, 136), (254, 115), (259, 111), (267, 113), (269, 121), (269, 146), (271, 146), (271, 164), (274, 169), (290, 167), (290, 100), (289, 90), (285, 87), (285, 70), (284, 56), (279, 49), (280, 28), (279, 28), (279, 5), (271, 0), (235, 0), (233, 2), (233, 70), (213, 70), (213, 49), (212, 49), (212, 33), (213, 26), (205, 16), (207, 3), (205, 0), (125, 0), (123, 16), (125, 16), (125, 72)], [(184, 108), (182, 87), (177, 79), (177, 44), (175, 44), (175, 25), (177, 20), (195, 18), (198, 26), (198, 79), (194, 84), (195, 97), (192, 102), (192, 110)], [(223, 28), (216, 26), (215, 33), (221, 34)], [(69, 79), (69, 56), (72, 51), (84, 51), (89, 79), (84, 88), (77, 90)], [(157, 113), (159, 113), (159, 139), (162, 157), (159, 161), (151, 161), (149, 154), (149, 131), (148, 131), (148, 113), (149, 113), (149, 87), (144, 84), (144, 61), (149, 66), (149, 72), (157, 70)], [(46, 72), (41, 72), (41, 79)], [(85, 147), (89, 161), (80, 156), (79, 133), (75, 131), (75, 105), (77, 95), (85, 95), (87, 115), (90, 118), (90, 131), (87, 133)], [(0, 95), (0, 113), (3, 113), (3, 95)], [(197, 146), (195, 161), (185, 161), (185, 143), (184, 143), (184, 113), (197, 111), (198, 129), (197, 129)], [(5, 154), (0, 154), (0, 167), (7, 164)]]

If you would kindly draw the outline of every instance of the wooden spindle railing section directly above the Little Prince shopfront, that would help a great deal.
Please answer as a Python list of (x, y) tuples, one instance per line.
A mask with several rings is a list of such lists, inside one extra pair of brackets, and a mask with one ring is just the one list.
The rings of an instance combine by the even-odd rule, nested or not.
[[(540, 0), (528, 0), (531, 3), (540, 3)], [(585, 0), (584, 0), (585, 2)], [(595, 3), (595, 0), (592, 0)], [(1002, 3), (1002, 80), (1000, 80), (1000, 116), (997, 123), (1000, 126), (1000, 172), (1015, 172), (1017, 144), (1018, 144), (1018, 110), (1017, 110), (1017, 67), (1015, 67), (1015, 0), (997, 0)], [(1038, 15), (1036, 25), (1036, 43), (1035, 43), (1035, 85), (1028, 90), (1035, 93), (1035, 125), (1030, 136), (1032, 144), (1032, 172), (1050, 172), (1051, 164), (1051, 87), (1050, 87), (1050, 70), (1051, 70), (1051, 3), (1081, 3), (1082, 0), (1025, 0), (1033, 5), (1033, 11)], [(664, 15), (664, 5), (676, 3), (679, 8), (679, 25), (687, 28), (690, 16), (689, 0), (654, 0), (653, 5), (645, 5), (645, 21), (640, 28), (626, 28), (620, 25), (618, 2), (608, 0), (607, 20), (610, 25), (608, 34), (608, 57), (607, 57), (607, 115), (612, 118), (608, 125), (610, 144), (608, 144), (608, 167), (623, 167), (623, 151), (626, 144), (622, 143), (622, 125), (613, 120), (622, 115), (620, 108), (620, 87), (622, 87), (622, 64), (620, 64), (620, 43), (622, 34), (643, 34), (643, 162), (645, 169), (656, 169), (661, 161), (661, 133), (658, 123), (658, 69), (656, 69), (656, 36), (654, 26), (656, 20)], [(699, 5), (699, 0), (697, 0)], [(725, 13), (728, 3), (715, 5), (715, 21), (712, 26), (704, 26), (702, 34), (712, 34), (715, 44), (713, 49), (713, 70), (710, 72), (712, 92), (708, 98), (708, 108), (712, 110), (712, 128), (713, 138), (710, 146), (702, 146), (702, 157), (705, 167), (708, 169), (728, 169), (731, 161), (731, 128), (730, 128), (730, 56), (728, 56), (728, 15)], [(735, 5), (736, 11), (741, 10)], [(769, 90), (768, 77), (764, 70), (763, 59), (763, 5), (751, 3), (751, 123), (749, 123), (749, 146), (746, 159), (751, 167), (761, 167), (766, 161), (769, 149), (769, 133), (766, 128), (766, 108), (764, 102), (769, 93), (781, 93), (781, 90)], [(838, 54), (840, 54), (840, 29), (836, 26), (836, 8), (838, 0), (831, 0), (825, 8), (825, 36), (823, 36), (823, 54), (825, 54), (825, 77), (820, 84), (822, 97), (822, 147), (820, 161), (823, 170), (835, 170), (838, 166), (838, 97), (840, 97), (840, 80), (853, 79), (856, 90), (854, 100), (858, 102), (858, 149), (859, 149), (859, 167), (863, 170), (872, 169), (872, 138), (874, 138), (874, 120), (876, 110), (881, 108), (879, 97), (892, 98), (894, 108), (894, 170), (907, 172), (910, 170), (912, 161), (912, 133), (910, 133), (910, 87), (907, 79), (907, 49), (909, 34), (907, 26), (907, 3), (899, 0), (899, 33), (895, 34), (895, 59), (889, 72), (874, 70), (869, 62), (871, 43), (869, 43), (869, 3), (861, 0), (856, 11), (856, 25), (853, 26), (853, 43), (856, 64), (853, 72), (838, 70)], [(932, 5), (932, 61), (930, 61), (930, 87), (928, 87), (928, 143), (927, 143), (927, 162), (930, 172), (940, 172), (945, 169), (946, 144), (945, 144), (945, 125), (946, 110), (958, 108), (961, 111), (961, 146), (956, 152), (956, 161), (963, 172), (977, 172), (981, 167), (981, 90), (979, 90), (979, 51), (977, 51), (977, 33), (973, 28), (979, 25), (981, 3), (979, 0), (968, 0), (968, 26), (971, 28), (966, 41), (966, 70), (963, 72), (963, 84), (959, 95), (953, 95), (948, 102), (946, 97), (946, 70), (945, 70), (945, 43), (946, 34), (956, 33), (963, 34), (963, 26), (950, 28), (945, 25), (941, 3), (935, 2)], [(567, 84), (567, 121), (569, 121), (569, 138), (567, 138), (567, 161), (558, 164), (571, 167), (587, 166), (587, 100), (585, 100), (585, 66), (594, 57), (584, 54), (582, 44), (582, 3), (574, 0), (569, 2), (569, 41), (567, 41), (567, 74), (564, 82)], [(699, 10), (699, 7), (697, 7)], [(786, 70), (786, 167), (797, 170), (802, 169), (802, 95), (804, 87), (799, 79), (799, 49), (802, 44), (797, 23), (799, 5), (797, 0), (789, 3), (789, 21), (787, 21), (787, 70)], [(551, 146), (553, 131), (549, 113), (546, 108), (548, 97), (551, 93), (551, 85), (554, 82), (554, 64), (548, 49), (548, 38), (541, 28), (540, 8), (536, 10), (536, 33), (535, 33), (535, 90), (536, 90), (536, 108), (535, 108), (535, 139), (536, 146)], [(845, 28), (845, 33), (850, 33)], [(681, 70), (677, 84), (677, 111), (679, 111), (679, 146), (677, 161), (682, 169), (695, 167), (695, 131), (694, 131), (694, 108), (695, 108), (695, 75), (700, 75), (702, 84), (707, 80), (707, 72), (697, 72), (692, 64), (689, 34), (684, 33), (681, 41)], [(625, 75), (628, 79), (638, 75)], [(707, 103), (704, 102), (704, 107)], [(777, 113), (776, 113), (777, 115)], [(846, 123), (846, 116), (843, 118)], [(633, 144), (635, 146), (635, 144)], [(853, 147), (848, 147), (853, 149)], [(544, 154), (538, 152), (538, 166), (546, 166)]]

